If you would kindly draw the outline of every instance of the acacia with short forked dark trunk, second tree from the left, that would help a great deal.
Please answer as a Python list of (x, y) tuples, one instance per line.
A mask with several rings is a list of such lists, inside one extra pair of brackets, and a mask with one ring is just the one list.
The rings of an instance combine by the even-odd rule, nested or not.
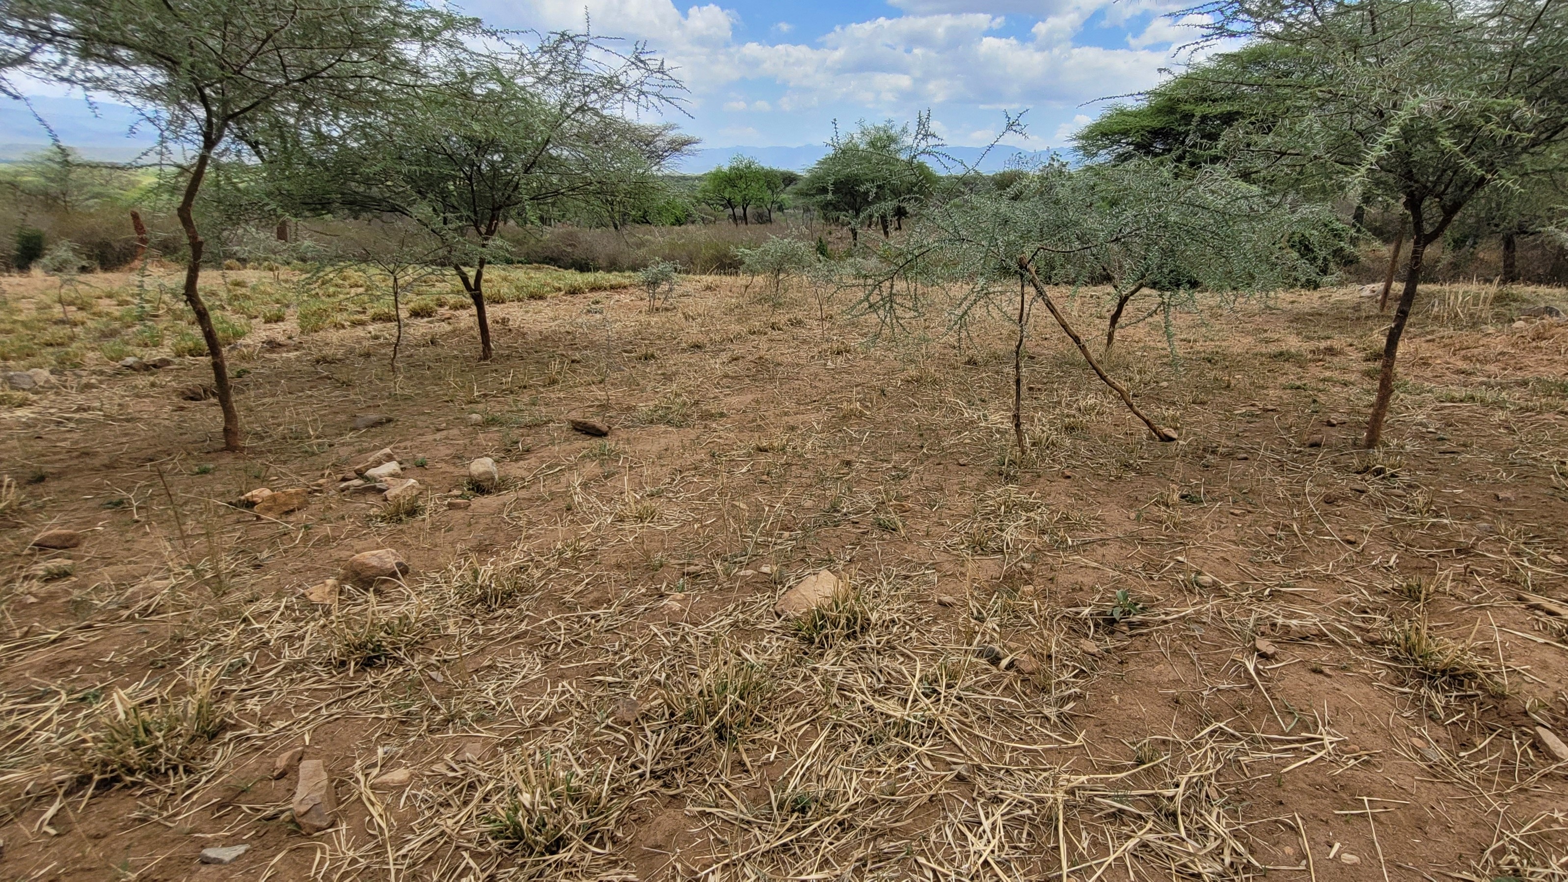
[[(616, 158), (657, 169), (690, 141), (624, 113), (676, 107), (681, 83), (646, 47), (616, 52), (588, 33), (533, 45), (452, 53), (447, 80), (365, 113), (325, 121), (279, 154), (279, 174), (304, 213), (397, 215), (447, 243), (474, 301), (480, 360), (489, 360), (485, 266), (508, 224), (604, 186)], [(470, 273), (472, 268), (472, 273)]]

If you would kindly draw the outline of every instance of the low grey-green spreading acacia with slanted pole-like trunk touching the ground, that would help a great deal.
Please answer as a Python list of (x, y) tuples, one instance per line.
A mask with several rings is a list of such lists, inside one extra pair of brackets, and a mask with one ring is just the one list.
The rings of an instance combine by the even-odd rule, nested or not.
[[(961, 284), (949, 323), (963, 332), (986, 315), (1016, 326), (1013, 349), (1013, 432), (1022, 428), (1024, 346), (1030, 309), (1041, 304), (1073, 340), (1090, 368), (1148, 426), (1154, 439), (1176, 440), (1138, 409), (1127, 389), (1094, 359), (1063, 315), (1051, 285), (1074, 288), (1120, 279), (1120, 304), (1137, 285), (1157, 280), (1206, 290), (1269, 290), (1316, 277), (1290, 248), (1320, 208), (1269, 196), (1221, 168), (1179, 172), (1167, 161), (1140, 160), (1105, 169), (1073, 171), (1047, 163), (1014, 177), (1011, 186), (964, 186), (931, 204), (908, 240), (884, 251), (884, 276), (920, 274)], [(897, 318), (895, 285), (867, 309)], [(1014, 293), (1016, 291), (1016, 293)], [(894, 310), (891, 313), (889, 310)]]

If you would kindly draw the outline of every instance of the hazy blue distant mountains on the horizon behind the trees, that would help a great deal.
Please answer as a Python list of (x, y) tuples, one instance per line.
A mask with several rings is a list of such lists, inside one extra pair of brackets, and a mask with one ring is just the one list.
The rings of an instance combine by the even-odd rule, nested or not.
[[(0, 99), (0, 161), (19, 160), (49, 147), (49, 130), (33, 116), (42, 116), (61, 143), (75, 147), (89, 160), (122, 163), (136, 158), (152, 147), (154, 132), (141, 122), (133, 110), (118, 103), (88, 105), (82, 99), (34, 97), (33, 108), (11, 99)], [(136, 124), (141, 122), (138, 127)], [(994, 147), (982, 160), (982, 147), (947, 147), (946, 152), (960, 163), (980, 171), (996, 172), (1016, 164), (1044, 161), (1057, 150), (1021, 150), (1018, 147)], [(828, 155), (826, 144), (803, 144), (800, 147), (702, 147), (688, 157), (676, 160), (671, 171), (702, 174), (729, 163), (734, 157), (751, 157), (771, 168), (806, 171)], [(936, 166), (938, 163), (931, 163)], [(942, 169), (958, 172), (963, 169)]]

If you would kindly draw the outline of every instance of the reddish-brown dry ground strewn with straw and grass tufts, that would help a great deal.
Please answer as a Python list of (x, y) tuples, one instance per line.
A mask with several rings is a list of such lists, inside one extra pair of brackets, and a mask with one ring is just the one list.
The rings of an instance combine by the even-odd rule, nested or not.
[[(245, 454), (202, 359), (105, 360), (180, 354), (168, 295), (6, 280), (0, 357), (74, 373), (0, 410), (5, 877), (1568, 879), (1568, 324), (1512, 324), (1560, 291), (1430, 288), (1375, 453), (1353, 290), (1182, 315), (1179, 371), (1120, 335), (1174, 445), (1040, 313), (1019, 459), (1005, 335), (543, 276), (488, 365), (420, 293), (397, 376), (386, 316), (312, 324), (356, 279), (215, 277)], [(383, 446), (425, 493), (337, 493)]]

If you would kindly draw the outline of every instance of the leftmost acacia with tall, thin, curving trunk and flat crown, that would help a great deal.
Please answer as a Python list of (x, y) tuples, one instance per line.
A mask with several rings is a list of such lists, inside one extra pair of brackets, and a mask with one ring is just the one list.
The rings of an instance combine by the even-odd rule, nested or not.
[(130, 105), (177, 157), (185, 302), (212, 359), (224, 450), (241, 446), (223, 345), (198, 288), (194, 207), (215, 157), (263, 121), (372, 103), (463, 23), (406, 0), (6, 0), (0, 58)]

